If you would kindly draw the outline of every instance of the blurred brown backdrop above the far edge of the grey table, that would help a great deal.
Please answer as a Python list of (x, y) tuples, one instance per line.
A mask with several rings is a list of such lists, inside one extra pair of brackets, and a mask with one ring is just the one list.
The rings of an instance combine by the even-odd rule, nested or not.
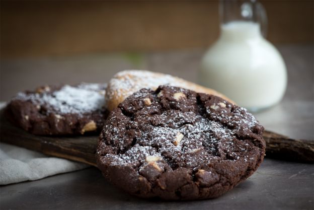
[[(274, 44), (313, 42), (313, 1), (261, 1)], [(1, 57), (206, 47), (217, 1), (1, 1)]]

